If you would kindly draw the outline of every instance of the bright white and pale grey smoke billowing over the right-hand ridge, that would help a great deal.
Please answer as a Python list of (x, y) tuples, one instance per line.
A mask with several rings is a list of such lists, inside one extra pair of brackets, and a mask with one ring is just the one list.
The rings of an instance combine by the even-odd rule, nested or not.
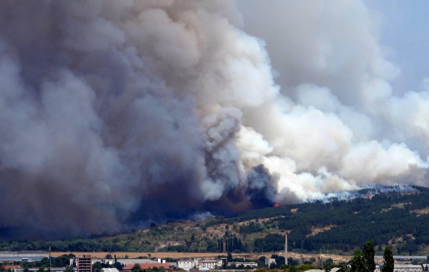
[(273, 147), (267, 160), (281, 161), (266, 163), (280, 173), (279, 190), (305, 200), (374, 184), (427, 186), (414, 175), (427, 167), (426, 94), (393, 95), (389, 82), (400, 68), (378, 42), (375, 13), (359, 1), (239, 4), (245, 29), (267, 41), (276, 81), (294, 101), (273, 102), (261, 110), (265, 120), (244, 115)]

